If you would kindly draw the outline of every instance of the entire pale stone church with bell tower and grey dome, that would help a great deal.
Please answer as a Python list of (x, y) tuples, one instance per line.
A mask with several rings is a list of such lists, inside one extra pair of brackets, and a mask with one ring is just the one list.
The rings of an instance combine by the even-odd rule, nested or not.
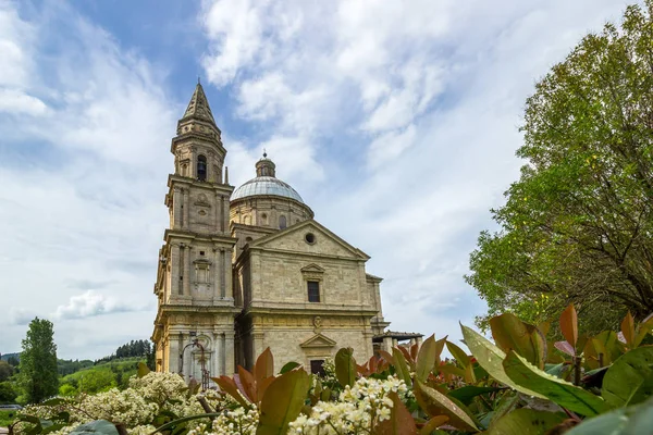
[[(208, 382), (250, 369), (266, 348), (275, 371), (311, 372), (343, 347), (362, 362), (419, 334), (386, 332), (370, 259), (313, 217), (263, 153), (234, 189), (226, 149), (198, 83), (172, 139), (170, 225), (159, 250), (152, 340), (158, 371)], [(283, 170), (283, 169), (281, 169)]]

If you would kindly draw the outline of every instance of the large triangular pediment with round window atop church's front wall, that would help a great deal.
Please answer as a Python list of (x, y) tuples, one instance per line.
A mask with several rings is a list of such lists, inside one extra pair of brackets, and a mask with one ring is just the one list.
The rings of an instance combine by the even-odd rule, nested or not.
[[(307, 239), (307, 235), (312, 235), (312, 241)], [(264, 248), (356, 260), (369, 260), (370, 258), (312, 219), (254, 240), (249, 247), (250, 249)]]

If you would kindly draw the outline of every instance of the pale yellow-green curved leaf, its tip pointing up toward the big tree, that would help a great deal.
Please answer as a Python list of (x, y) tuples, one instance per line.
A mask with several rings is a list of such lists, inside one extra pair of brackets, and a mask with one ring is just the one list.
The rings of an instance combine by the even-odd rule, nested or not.
[(486, 339), (472, 328), (469, 328), (464, 325), (460, 325), (460, 328), (463, 330), (465, 344), (471, 351), (471, 355), (473, 355), (479, 364), (483, 369), (485, 369), (488, 373), (490, 373), (490, 376), (494, 377), (502, 384), (505, 384), (518, 390), (519, 393), (545, 399), (544, 396), (532, 391), (528, 388), (525, 388), (521, 385), (515, 383), (513, 380), (510, 380), (503, 366), (503, 360), (506, 358), (506, 355), (503, 350), (494, 346), (492, 343), (490, 343), (489, 339)]

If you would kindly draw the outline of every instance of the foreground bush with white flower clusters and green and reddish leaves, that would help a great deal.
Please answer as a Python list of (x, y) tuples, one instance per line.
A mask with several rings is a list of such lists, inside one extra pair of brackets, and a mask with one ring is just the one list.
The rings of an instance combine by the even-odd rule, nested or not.
[[(653, 318), (638, 325), (628, 314), (620, 332), (594, 337), (581, 337), (576, 319), (574, 306), (562, 313), (562, 341), (546, 340), (546, 324), (530, 325), (510, 313), (490, 320), (495, 344), (461, 326), (471, 356), (433, 336), (421, 346), (380, 350), (362, 365), (352, 349), (341, 349), (328, 360), (324, 376), (297, 364), (274, 374), (267, 349), (251, 372), (238, 368), (234, 377), (213, 378), (220, 390), (204, 393), (177, 375), (141, 370), (123, 391), (28, 407), (11, 430), (30, 435), (650, 432), (653, 347), (642, 344)], [(440, 358), (444, 347), (452, 360)]]

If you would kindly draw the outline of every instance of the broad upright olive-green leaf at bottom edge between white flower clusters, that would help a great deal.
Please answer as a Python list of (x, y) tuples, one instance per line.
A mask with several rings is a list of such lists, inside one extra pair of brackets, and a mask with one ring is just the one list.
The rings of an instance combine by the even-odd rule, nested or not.
[(260, 407), (257, 435), (285, 434), (288, 424), (301, 411), (310, 387), (309, 376), (304, 370), (282, 374), (268, 387)]

